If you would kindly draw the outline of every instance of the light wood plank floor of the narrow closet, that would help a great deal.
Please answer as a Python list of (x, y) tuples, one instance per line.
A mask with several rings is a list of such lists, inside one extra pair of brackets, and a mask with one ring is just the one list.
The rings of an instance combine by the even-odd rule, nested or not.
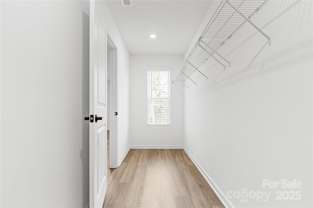
[(103, 208), (224, 208), (183, 150), (130, 150), (108, 169)]

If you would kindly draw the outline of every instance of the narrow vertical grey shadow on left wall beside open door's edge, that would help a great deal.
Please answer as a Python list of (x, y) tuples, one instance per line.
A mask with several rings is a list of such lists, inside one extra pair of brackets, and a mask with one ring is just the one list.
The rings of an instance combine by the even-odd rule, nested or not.
[[(89, 115), (89, 15), (85, 12), (83, 15), (83, 39), (82, 39), (82, 83), (83, 89), (81, 92), (83, 93), (83, 115)], [(82, 118), (83, 119), (83, 118)], [(82, 204), (87, 207), (89, 204), (89, 122), (83, 121), (82, 123), (82, 150), (80, 151), (80, 158), (82, 161), (82, 173), (83, 173), (83, 195), (81, 196)]]

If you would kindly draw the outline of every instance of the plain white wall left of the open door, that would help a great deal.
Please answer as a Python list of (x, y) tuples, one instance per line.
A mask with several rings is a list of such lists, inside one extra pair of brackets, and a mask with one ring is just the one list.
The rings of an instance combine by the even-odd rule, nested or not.
[(89, 2), (1, 1), (0, 27), (1, 207), (84, 208)]

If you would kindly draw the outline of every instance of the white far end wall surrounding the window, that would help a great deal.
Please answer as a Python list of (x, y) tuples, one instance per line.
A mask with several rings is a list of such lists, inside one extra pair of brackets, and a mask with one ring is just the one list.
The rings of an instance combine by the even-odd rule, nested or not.
[(147, 68), (170, 67), (172, 80), (182, 61), (180, 55), (131, 55), (130, 135), (133, 148), (182, 147), (183, 96), (172, 83), (171, 125), (147, 125)]

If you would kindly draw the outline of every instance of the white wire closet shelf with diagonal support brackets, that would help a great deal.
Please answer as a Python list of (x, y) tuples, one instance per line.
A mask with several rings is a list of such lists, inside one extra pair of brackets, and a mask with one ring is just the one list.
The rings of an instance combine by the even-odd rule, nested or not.
[(212, 80), (199, 70), (209, 58), (215, 59), (224, 70), (226, 67), (230, 67), (230, 62), (220, 55), (218, 50), (246, 22), (249, 22), (267, 38), (268, 45), (270, 45), (268, 35), (250, 20), (267, 2), (268, 0), (222, 0), (172, 82), (182, 82), (189, 88), (184, 83), (188, 79), (197, 85), (191, 77), (194, 73), (199, 73), (206, 79)]

